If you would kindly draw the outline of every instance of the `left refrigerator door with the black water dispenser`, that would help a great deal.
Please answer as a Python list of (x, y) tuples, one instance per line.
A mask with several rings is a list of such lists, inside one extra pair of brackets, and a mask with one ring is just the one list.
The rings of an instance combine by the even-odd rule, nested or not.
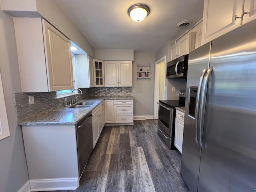
[(198, 86), (200, 76), (204, 68), (209, 65), (210, 42), (190, 52), (188, 56), (188, 76), (186, 87), (186, 104), (184, 118), (184, 133), (182, 144), (181, 174), (190, 191), (197, 190), (198, 173), (200, 163), (200, 147), (196, 144), (195, 120), (188, 115), (190, 105), (190, 87)]

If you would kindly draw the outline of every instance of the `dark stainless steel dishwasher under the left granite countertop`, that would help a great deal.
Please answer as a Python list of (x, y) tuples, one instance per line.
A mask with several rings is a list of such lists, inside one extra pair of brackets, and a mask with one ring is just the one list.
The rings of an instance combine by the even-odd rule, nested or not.
[(92, 113), (86, 115), (76, 124), (76, 142), (80, 177), (93, 150)]

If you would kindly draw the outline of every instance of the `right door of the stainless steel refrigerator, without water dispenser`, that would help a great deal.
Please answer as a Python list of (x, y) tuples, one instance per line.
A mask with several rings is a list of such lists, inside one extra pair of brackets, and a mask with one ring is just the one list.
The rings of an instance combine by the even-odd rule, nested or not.
[(256, 188), (255, 26), (212, 41), (198, 192)]

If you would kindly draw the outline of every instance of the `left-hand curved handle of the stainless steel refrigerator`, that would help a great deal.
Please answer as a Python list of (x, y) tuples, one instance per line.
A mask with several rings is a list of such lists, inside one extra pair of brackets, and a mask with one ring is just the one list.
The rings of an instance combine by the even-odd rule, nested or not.
[(196, 128), (196, 143), (198, 144), (199, 147), (200, 147), (199, 137), (198, 137), (198, 121), (199, 121), (198, 118), (200, 118), (200, 116), (199, 116), (199, 104), (200, 104), (200, 95), (201, 95), (201, 90), (202, 90), (203, 78), (204, 78), (204, 75), (206, 74), (207, 70), (208, 70), (208, 68), (206, 67), (202, 71), (202, 74), (200, 76), (199, 83), (198, 83), (197, 94), (196, 94), (195, 128)]

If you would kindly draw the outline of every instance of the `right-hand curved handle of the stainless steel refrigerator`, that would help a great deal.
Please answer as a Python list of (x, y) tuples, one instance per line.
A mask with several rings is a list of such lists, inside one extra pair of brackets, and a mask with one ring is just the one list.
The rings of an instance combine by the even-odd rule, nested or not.
[(199, 121), (199, 144), (201, 148), (204, 150), (204, 144), (203, 144), (203, 128), (204, 128), (204, 113), (205, 113), (205, 105), (206, 105), (206, 93), (207, 93), (207, 85), (208, 85), (208, 80), (210, 77), (210, 74), (213, 70), (213, 67), (211, 66), (208, 71), (206, 72), (206, 75), (204, 76), (204, 80), (202, 83), (202, 94), (201, 94), (201, 101), (200, 101), (200, 121)]

